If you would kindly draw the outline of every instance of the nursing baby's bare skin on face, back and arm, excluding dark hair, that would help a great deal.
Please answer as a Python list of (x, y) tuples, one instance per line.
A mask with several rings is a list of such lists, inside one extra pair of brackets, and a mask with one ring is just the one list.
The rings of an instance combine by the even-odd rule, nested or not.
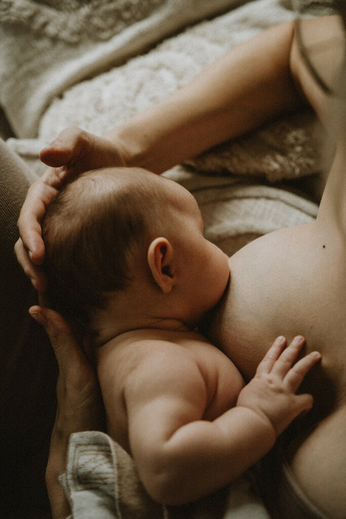
[[(312, 396), (295, 392), (321, 355), (312, 352), (294, 363), (304, 338), (284, 350), (281, 337), (243, 388), (232, 361), (193, 330), (229, 280), (226, 255), (203, 236), (196, 200), (179, 184), (145, 170), (99, 169), (66, 187), (65, 195), (75, 197), (75, 212), (66, 202), (70, 220), (80, 211), (78, 194), (93, 192), (103, 177), (107, 194), (119, 185), (130, 192), (150, 183), (149, 195), (142, 192), (145, 207), (154, 189), (164, 197), (161, 218), (153, 212), (143, 239), (132, 244), (128, 284), (110, 291), (107, 303), (90, 316), (88, 350), (97, 366), (107, 432), (133, 456), (151, 497), (184, 504), (236, 479), (269, 452), (296, 416), (310, 410)], [(109, 184), (114, 179), (115, 188)], [(85, 210), (98, 211), (95, 199), (90, 206), (84, 200)], [(46, 240), (48, 246), (47, 235)], [(90, 237), (88, 252), (92, 247)], [(113, 245), (103, 247), (113, 258)]]

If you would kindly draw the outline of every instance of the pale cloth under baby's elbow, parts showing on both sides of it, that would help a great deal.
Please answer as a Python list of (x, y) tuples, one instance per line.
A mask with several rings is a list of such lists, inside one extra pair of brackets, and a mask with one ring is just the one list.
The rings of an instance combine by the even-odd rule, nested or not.
[(71, 435), (60, 482), (70, 519), (270, 519), (250, 472), (190, 505), (162, 506), (146, 493), (131, 456), (99, 431)]

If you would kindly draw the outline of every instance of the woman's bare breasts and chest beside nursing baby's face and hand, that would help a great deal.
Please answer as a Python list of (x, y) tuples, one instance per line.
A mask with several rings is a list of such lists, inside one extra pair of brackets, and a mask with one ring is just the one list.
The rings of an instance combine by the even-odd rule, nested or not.
[[(313, 502), (346, 515), (346, 247), (321, 204), (314, 223), (259, 238), (229, 259), (230, 284), (212, 316), (210, 337), (250, 379), (273, 337), (301, 333), (322, 353), (305, 380), (320, 420), (293, 446), (292, 468)], [(325, 218), (326, 216), (326, 218)], [(327, 220), (329, 217), (329, 222)], [(333, 383), (331, 382), (333, 381)]]

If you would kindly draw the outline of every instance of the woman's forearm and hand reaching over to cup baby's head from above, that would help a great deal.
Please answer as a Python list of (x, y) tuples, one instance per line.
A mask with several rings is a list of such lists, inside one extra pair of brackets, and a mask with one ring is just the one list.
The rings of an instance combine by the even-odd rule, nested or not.
[[(184, 159), (253, 129), (306, 102), (292, 52), (294, 23), (284, 23), (232, 48), (187, 86), (96, 137), (78, 128), (64, 130), (41, 152), (49, 170), (30, 189), (18, 221), (19, 263), (38, 290), (45, 288), (40, 222), (62, 182), (104, 166), (141, 166), (161, 173)], [(298, 85), (298, 87), (297, 87)], [(116, 93), (114, 96), (116, 102)]]

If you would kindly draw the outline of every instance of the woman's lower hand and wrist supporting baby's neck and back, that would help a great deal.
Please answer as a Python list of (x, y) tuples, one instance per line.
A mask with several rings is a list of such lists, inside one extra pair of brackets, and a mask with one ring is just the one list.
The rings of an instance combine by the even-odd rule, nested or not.
[(104, 411), (95, 372), (70, 326), (53, 310), (30, 308), (45, 327), (59, 365), (57, 414), (50, 441), (46, 484), (54, 519), (65, 519), (70, 507), (58, 477), (66, 469), (68, 439), (74, 432), (104, 430)]

